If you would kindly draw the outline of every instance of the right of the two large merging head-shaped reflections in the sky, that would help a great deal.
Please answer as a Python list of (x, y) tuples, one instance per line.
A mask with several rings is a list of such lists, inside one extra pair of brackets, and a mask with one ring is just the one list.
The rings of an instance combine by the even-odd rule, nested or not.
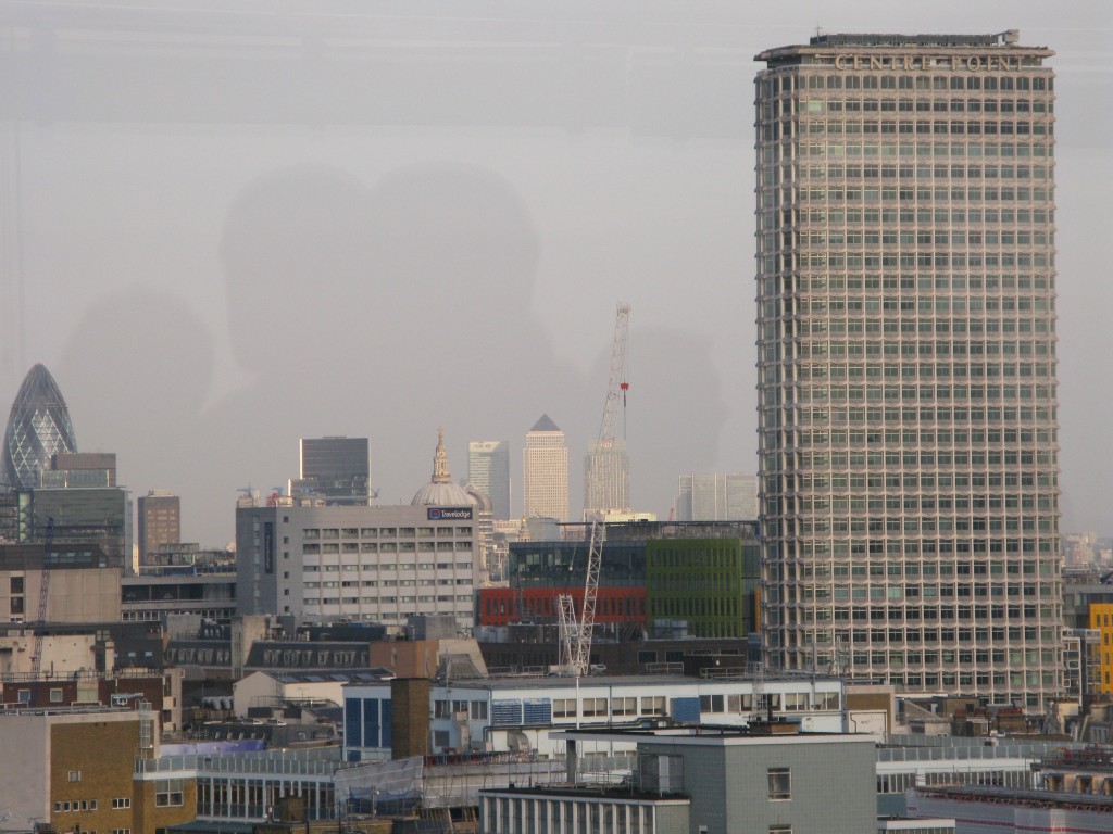
[(373, 193), (375, 282), (387, 295), (461, 314), (461, 306), (495, 304), (510, 315), (528, 307), (538, 239), (501, 175), (464, 163), (413, 165), (386, 175)]

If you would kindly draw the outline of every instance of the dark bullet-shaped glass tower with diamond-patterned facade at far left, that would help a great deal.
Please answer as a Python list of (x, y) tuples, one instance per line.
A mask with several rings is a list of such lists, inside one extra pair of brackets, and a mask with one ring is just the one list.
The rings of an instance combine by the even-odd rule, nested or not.
[(51, 455), (61, 451), (77, 451), (69, 409), (50, 371), (36, 365), (11, 404), (3, 434), (3, 479), (12, 488), (36, 488), (39, 474), (50, 468)]

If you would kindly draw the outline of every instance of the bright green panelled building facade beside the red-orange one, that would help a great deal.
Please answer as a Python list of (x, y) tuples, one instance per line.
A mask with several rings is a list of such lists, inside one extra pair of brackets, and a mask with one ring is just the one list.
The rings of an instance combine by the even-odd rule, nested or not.
[(652, 634), (745, 637), (758, 631), (761, 553), (757, 536), (646, 543)]

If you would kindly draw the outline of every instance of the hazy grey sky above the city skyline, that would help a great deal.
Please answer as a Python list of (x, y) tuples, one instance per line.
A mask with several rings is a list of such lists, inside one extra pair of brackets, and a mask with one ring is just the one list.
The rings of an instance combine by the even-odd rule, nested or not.
[[(754, 56), (824, 31), (1057, 52), (1064, 528), (1113, 532), (1113, 6), (647, 0), (0, 2), (0, 403), (36, 361), (82, 450), (233, 534), (297, 438), (371, 438), (408, 502), (445, 427), (568, 433), (614, 305), (633, 497), (756, 467)], [(515, 502), (516, 503), (516, 502)]]

